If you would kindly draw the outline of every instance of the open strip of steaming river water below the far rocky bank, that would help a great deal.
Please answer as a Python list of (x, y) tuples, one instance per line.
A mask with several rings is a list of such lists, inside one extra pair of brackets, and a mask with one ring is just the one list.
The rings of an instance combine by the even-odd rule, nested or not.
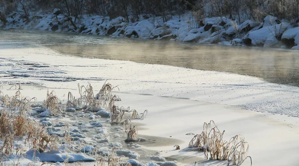
[(231, 72), (299, 86), (299, 52), (294, 50), (17, 30), (0, 30), (0, 39), (32, 41), (73, 56)]

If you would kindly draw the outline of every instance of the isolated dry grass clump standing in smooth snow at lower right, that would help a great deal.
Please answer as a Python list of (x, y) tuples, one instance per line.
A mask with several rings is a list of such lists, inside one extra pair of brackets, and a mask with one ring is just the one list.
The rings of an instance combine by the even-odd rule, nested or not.
[(221, 132), (214, 121), (203, 124), (201, 134), (195, 135), (189, 143), (189, 147), (196, 147), (203, 151), (205, 158), (209, 160), (227, 160), (228, 164), (241, 165), (247, 158), (249, 144), (241, 135), (232, 137), (228, 142), (223, 140), (224, 132)]

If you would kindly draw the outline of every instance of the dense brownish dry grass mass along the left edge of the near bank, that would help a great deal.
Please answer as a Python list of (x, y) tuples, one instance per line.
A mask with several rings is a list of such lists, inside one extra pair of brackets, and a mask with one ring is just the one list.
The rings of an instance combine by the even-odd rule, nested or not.
[(38, 152), (57, 149), (59, 138), (50, 136), (45, 126), (33, 121), (28, 114), (29, 102), (33, 99), (35, 97), (22, 97), (19, 90), (14, 96), (3, 95), (0, 98), (0, 153), (7, 156), (22, 155), (21, 146), (17, 146), (14, 141), (23, 137), (24, 146), (29, 149), (36, 149)]

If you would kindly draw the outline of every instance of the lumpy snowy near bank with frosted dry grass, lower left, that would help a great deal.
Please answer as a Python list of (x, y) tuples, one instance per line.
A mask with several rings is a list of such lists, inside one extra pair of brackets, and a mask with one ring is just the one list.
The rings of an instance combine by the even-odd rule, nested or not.
[[(16, 165), (23, 164), (25, 160), (29, 160), (31, 163), (41, 163), (42, 165), (57, 162), (63, 163), (63, 165), (74, 162), (95, 162), (97, 166), (104, 166), (105, 164), (108, 166), (131, 166), (131, 164), (134, 165), (136, 162), (140, 163), (136, 161), (140, 157), (138, 153), (123, 149), (120, 143), (110, 143), (110, 132), (106, 127), (110, 122), (113, 125), (121, 124), (119, 126), (120, 131), (128, 133), (130, 136), (130, 140), (127, 138), (126, 141), (140, 141), (137, 140), (136, 126), (130, 127), (128, 132), (127, 129), (126, 131), (122, 130), (121, 126), (124, 123), (121, 123), (122, 118), (119, 119), (119, 116), (124, 116), (125, 113), (128, 114), (130, 124), (126, 125), (130, 126), (132, 126), (131, 119), (133, 118), (128, 113), (129, 111), (119, 109), (115, 105), (115, 100), (119, 101), (120, 98), (111, 94), (114, 87), (110, 83), (105, 82), (95, 96), (93, 95), (94, 91), (91, 84), (87, 86), (78, 84), (78, 88), (80, 97), (76, 98), (69, 92), (68, 100), (65, 103), (55, 95), (54, 91), (50, 93), (47, 91), (46, 98), (42, 104), (35, 103), (36, 101), (33, 101), (36, 99), (35, 97), (32, 99), (23, 97), (20, 90), (17, 90), (13, 96), (4, 95), (0, 91), (0, 152), (2, 153), (0, 162), (4, 164), (13, 163), (15, 162), (14, 159), (18, 158)], [(0, 89), (2, 90), (3, 86)], [(93, 103), (105, 103), (106, 101), (110, 102), (108, 106)], [(93, 105), (92, 107), (94, 108), (90, 109), (91, 107), (88, 104)], [(99, 108), (95, 108), (95, 106), (99, 106)], [(67, 111), (72, 107), (82, 108), (80, 110), (73, 108), (74, 110)], [(93, 110), (100, 111), (94, 113)], [(102, 113), (99, 113), (101, 111)], [(39, 114), (39, 112), (42, 113)], [(53, 121), (53, 118), (57, 117), (59, 119), (65, 117), (65, 115), (75, 118), (79, 112), (83, 113), (82, 117), (85, 117), (84, 114), (87, 114), (89, 117), (93, 116), (90, 119), (90, 125), (91, 128), (94, 128), (97, 135), (93, 136), (91, 140), (95, 141), (96, 144), (85, 140), (90, 139), (84, 134), (86, 128), (83, 128), (83, 130), (70, 130), (71, 126), (69, 123), (59, 121), (58, 124), (55, 124)], [(147, 113), (147, 111), (145, 112)], [(106, 120), (108, 123), (105, 123), (104, 119), (101, 122), (98, 121), (101, 117), (95, 118), (97, 116), (95, 114), (112, 114), (112, 116), (103, 116), (106, 119), (110, 119)], [(142, 119), (144, 118), (145, 115)], [(139, 119), (141, 118), (139, 117)], [(78, 128), (82, 127), (79, 126)], [(86, 130), (86, 132), (89, 132), (89, 130)], [(116, 138), (121, 139), (122, 137)], [(102, 146), (109, 148), (107, 153), (98, 151), (97, 148)], [(136, 159), (136, 162), (132, 163), (132, 160), (126, 162), (123, 160), (123, 156), (128, 159)]]

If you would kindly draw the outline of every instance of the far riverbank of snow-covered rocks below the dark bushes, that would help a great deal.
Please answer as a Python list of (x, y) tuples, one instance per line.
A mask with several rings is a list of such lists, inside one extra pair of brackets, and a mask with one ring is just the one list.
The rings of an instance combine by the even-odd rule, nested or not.
[(196, 23), (194, 16), (188, 13), (169, 16), (166, 22), (160, 17), (130, 23), (124, 20), (123, 17), (82, 15), (78, 28), (74, 28), (55, 10), (54, 13), (31, 15), (29, 22), (14, 13), (5, 25), (0, 22), (0, 27), (265, 48), (298, 49), (299, 44), (298, 28), (273, 16), (265, 17), (263, 22), (246, 20), (242, 23), (226, 17), (205, 18)]

